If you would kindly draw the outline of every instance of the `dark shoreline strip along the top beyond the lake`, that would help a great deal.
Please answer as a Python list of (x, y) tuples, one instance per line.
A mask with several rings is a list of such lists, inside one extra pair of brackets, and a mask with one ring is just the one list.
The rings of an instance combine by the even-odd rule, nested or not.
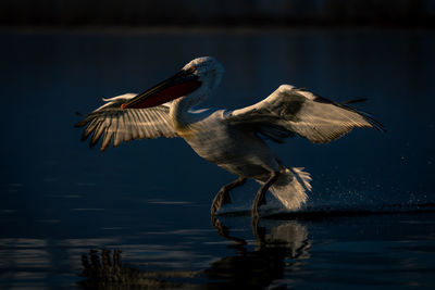
[(0, 24), (15, 26), (364, 25), (433, 27), (432, 0), (3, 0)]

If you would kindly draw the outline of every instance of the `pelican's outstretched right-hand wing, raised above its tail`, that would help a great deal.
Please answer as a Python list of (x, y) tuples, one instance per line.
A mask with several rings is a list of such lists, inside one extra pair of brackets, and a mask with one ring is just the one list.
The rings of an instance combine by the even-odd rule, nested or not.
[(291, 133), (316, 143), (335, 140), (353, 127), (382, 125), (368, 113), (330, 101), (289, 85), (279, 86), (263, 101), (234, 111), (232, 124), (251, 124), (260, 134), (283, 141)]

